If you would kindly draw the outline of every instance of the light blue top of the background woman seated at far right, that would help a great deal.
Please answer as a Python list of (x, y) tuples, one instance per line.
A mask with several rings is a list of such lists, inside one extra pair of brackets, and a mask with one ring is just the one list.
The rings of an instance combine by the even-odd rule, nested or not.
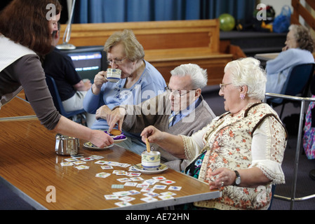
[(300, 48), (290, 48), (281, 52), (275, 59), (267, 61), (266, 92), (283, 94), (283, 85), (293, 66), (308, 63), (314, 63), (313, 55), (308, 50)]

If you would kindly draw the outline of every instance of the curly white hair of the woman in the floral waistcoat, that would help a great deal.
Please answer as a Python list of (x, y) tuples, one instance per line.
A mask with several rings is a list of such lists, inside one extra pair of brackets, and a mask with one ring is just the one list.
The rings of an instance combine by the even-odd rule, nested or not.
[(260, 61), (253, 57), (246, 57), (229, 62), (224, 72), (231, 73), (234, 86), (248, 86), (248, 97), (253, 99), (264, 99), (266, 92), (266, 72), (260, 66)]

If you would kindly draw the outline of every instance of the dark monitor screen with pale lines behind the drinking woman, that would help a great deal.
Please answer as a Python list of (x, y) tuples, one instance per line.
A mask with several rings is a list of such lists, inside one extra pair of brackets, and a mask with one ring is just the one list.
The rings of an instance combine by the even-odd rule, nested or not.
[(106, 71), (106, 53), (99, 47), (78, 47), (75, 50), (67, 50), (65, 53), (71, 57), (76, 71), (82, 79), (90, 79), (93, 83), (95, 75), (99, 71)]

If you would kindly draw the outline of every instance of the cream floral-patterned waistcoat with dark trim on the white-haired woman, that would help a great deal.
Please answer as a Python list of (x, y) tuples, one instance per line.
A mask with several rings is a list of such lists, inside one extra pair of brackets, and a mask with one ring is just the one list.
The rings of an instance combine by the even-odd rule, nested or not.
[[(253, 132), (269, 116), (279, 120), (276, 112), (262, 103), (249, 106), (239, 116), (232, 117), (229, 113), (224, 113), (203, 137), (206, 143), (203, 152), (207, 152), (199, 179), (207, 183), (213, 181), (208, 172), (219, 167), (232, 170), (250, 167)], [(271, 188), (271, 184), (257, 188), (224, 186), (220, 188), (222, 197), (194, 204), (197, 207), (216, 209), (267, 209), (272, 197)]]

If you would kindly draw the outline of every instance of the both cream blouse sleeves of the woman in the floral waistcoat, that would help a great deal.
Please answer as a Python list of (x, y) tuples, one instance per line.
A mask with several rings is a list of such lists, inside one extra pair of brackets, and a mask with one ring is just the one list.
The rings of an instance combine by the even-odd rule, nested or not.
[[(206, 145), (203, 136), (209, 130), (208, 126), (203, 127), (192, 137), (181, 136), (188, 160), (194, 160), (199, 156)], [(286, 134), (279, 132), (282, 129), (281, 123), (273, 116), (265, 118), (253, 133), (251, 145), (252, 163), (248, 168), (259, 168), (273, 184), (285, 183), (281, 164), (286, 148)]]

